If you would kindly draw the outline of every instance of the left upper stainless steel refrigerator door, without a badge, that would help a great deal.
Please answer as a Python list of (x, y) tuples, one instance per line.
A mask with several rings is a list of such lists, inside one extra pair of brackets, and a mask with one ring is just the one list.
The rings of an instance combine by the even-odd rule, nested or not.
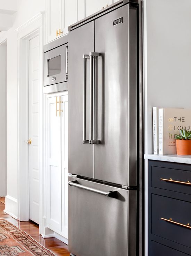
[[(83, 59), (94, 51), (94, 21), (69, 33), (69, 67), (68, 67), (68, 172), (94, 178), (94, 146), (83, 144), (89, 139), (90, 132), (90, 60)], [(84, 61), (86, 67), (84, 67)], [(84, 90), (84, 77), (86, 89)], [(83, 98), (85, 92), (85, 114)], [(83, 129), (84, 119), (86, 125)], [(83, 136), (85, 130), (85, 136)]]

